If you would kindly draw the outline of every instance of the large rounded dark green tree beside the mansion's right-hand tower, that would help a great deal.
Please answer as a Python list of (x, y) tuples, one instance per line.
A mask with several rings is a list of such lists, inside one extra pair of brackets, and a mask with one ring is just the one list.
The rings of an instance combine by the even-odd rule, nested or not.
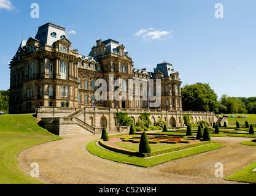
[(209, 84), (196, 83), (182, 88), (183, 110), (219, 112), (217, 94)]

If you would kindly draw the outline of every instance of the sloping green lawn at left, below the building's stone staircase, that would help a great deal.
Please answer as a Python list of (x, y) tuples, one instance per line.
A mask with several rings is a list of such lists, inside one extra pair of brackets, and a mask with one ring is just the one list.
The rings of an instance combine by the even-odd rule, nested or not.
[(39, 127), (32, 115), (0, 116), (0, 184), (41, 183), (23, 173), (17, 156), (26, 148), (59, 139)]

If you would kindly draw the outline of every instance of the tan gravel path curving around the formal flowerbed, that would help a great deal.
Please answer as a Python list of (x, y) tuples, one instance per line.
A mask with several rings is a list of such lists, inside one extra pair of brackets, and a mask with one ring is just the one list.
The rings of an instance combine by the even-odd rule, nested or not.
[[(26, 149), (18, 155), (18, 165), (30, 175), (31, 163), (39, 164), (43, 183), (236, 183), (223, 178), (255, 162), (255, 146), (239, 145), (251, 138), (212, 137), (225, 148), (172, 160), (149, 168), (118, 164), (89, 153), (86, 145), (100, 135), (70, 137)], [(223, 178), (214, 175), (215, 164), (223, 164)]]

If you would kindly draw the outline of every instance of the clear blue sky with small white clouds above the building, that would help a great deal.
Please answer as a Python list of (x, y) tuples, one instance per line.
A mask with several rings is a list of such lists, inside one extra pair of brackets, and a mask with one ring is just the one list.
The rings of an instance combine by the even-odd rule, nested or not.
[[(31, 18), (31, 4), (39, 18)], [(215, 18), (215, 4), (223, 18)], [(8, 62), (22, 36), (35, 37), (53, 20), (69, 32), (72, 48), (88, 55), (96, 40), (123, 44), (134, 66), (153, 71), (173, 64), (182, 86), (209, 83), (220, 97), (256, 96), (255, 0), (0, 0), (0, 89), (9, 88)]]

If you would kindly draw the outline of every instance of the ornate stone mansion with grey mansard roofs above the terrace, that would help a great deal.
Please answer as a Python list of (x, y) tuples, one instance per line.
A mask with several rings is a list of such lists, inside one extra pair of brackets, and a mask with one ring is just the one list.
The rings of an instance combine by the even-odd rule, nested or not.
[[(118, 85), (109, 86), (110, 75)], [(99, 79), (107, 83), (106, 100), (99, 100), (95, 95), (100, 87), (96, 85)], [(64, 27), (47, 23), (38, 28), (36, 37), (21, 41), (10, 62), (10, 113), (30, 113), (40, 107), (150, 109), (149, 100), (142, 99), (148, 89), (143, 85), (130, 87), (131, 79), (141, 83), (160, 79), (158, 108), (182, 110), (182, 82), (172, 64), (161, 62), (153, 72), (136, 69), (126, 48), (112, 39), (96, 40), (90, 54), (82, 55), (72, 49)], [(120, 99), (109, 99), (117, 89), (122, 92)], [(130, 90), (139, 98), (128, 99)]]

